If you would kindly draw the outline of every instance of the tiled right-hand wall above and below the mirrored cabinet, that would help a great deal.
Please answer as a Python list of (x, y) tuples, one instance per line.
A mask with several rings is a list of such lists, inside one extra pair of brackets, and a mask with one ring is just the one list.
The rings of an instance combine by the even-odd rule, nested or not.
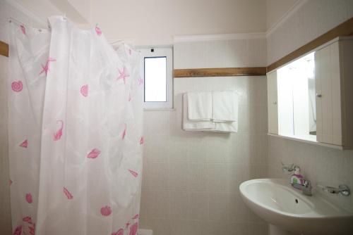
[[(352, 17), (353, 1), (306, 1), (268, 37), (268, 64)], [(353, 189), (353, 151), (339, 151), (277, 137), (269, 137), (268, 151), (269, 177), (286, 177), (281, 172), (280, 162), (283, 161), (299, 165), (314, 186), (317, 183), (330, 186), (347, 184)], [(318, 193), (353, 211), (352, 196)]]

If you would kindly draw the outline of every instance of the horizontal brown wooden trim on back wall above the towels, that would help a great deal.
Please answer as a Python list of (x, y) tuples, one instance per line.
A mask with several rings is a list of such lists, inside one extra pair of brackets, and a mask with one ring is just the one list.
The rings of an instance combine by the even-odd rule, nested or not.
[(266, 67), (249, 68), (186, 68), (174, 70), (174, 77), (264, 76)]

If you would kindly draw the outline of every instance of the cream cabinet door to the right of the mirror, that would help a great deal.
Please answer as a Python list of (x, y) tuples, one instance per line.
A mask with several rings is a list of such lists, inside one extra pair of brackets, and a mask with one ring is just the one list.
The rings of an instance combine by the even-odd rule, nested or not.
[(338, 42), (315, 53), (317, 141), (342, 146)]

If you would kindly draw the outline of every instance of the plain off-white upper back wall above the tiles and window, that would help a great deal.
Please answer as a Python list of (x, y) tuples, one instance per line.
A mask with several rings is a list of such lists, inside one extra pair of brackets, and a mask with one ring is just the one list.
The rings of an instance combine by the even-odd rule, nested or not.
[(172, 44), (174, 35), (264, 32), (263, 0), (92, 0), (91, 23), (109, 40)]

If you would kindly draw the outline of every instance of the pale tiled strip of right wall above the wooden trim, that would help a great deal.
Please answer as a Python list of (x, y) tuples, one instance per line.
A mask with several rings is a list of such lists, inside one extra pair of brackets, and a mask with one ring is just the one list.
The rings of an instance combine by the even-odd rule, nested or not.
[(268, 65), (352, 18), (352, 0), (302, 0), (305, 4), (268, 35)]

